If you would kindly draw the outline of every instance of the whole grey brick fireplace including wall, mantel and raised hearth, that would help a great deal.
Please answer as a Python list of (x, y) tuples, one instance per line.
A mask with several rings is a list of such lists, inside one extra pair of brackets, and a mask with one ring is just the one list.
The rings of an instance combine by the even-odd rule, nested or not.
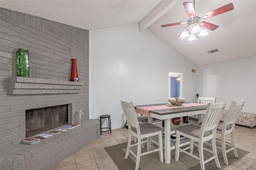
[[(97, 137), (98, 121), (88, 120), (89, 32), (4, 8), (0, 16), (1, 169), (49, 168)], [(30, 53), (30, 78), (16, 77), (18, 48)], [(72, 58), (79, 82), (69, 81)], [(26, 111), (59, 105), (68, 105), (68, 124), (82, 109), (85, 124), (35, 145), (20, 144)]]

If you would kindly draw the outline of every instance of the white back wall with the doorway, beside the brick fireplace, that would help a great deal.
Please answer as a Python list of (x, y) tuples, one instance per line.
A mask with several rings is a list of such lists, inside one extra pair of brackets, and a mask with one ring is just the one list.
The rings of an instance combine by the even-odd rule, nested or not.
[(183, 97), (196, 102), (196, 65), (138, 24), (90, 31), (89, 51), (90, 119), (110, 114), (112, 127), (120, 127), (120, 100), (167, 103), (169, 71), (183, 73)]

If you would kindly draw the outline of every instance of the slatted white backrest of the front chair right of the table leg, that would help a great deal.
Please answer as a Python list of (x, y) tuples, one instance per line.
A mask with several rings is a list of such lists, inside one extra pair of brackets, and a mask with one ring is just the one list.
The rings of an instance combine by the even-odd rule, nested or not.
[(204, 116), (204, 120), (200, 129), (200, 134), (204, 134), (204, 132), (208, 130), (217, 129), (217, 125), (220, 121), (220, 117), (222, 116), (225, 105), (226, 102), (215, 104), (208, 103), (206, 114)]

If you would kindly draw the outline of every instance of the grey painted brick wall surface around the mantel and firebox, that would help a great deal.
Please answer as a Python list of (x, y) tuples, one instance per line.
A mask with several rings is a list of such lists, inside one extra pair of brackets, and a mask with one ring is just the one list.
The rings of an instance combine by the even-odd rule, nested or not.
[[(43, 18), (0, 8), (0, 149), (25, 137), (25, 110), (70, 104), (88, 119), (89, 32)], [(9, 77), (17, 76), (16, 51), (28, 49), (30, 77), (69, 81), (70, 59), (77, 59), (82, 89), (72, 94), (10, 95)]]

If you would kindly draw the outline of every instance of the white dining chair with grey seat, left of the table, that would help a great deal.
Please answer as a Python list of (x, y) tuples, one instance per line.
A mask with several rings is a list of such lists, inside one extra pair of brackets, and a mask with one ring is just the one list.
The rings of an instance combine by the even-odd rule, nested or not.
[[(139, 169), (140, 156), (143, 156), (145, 154), (150, 154), (152, 152), (159, 151), (160, 162), (164, 162), (162, 129), (150, 123), (139, 124), (137, 113), (135, 112), (134, 105), (132, 102), (128, 103), (128, 102), (121, 101), (121, 105), (128, 123), (128, 144), (127, 144), (126, 154), (124, 158), (127, 159), (130, 152), (137, 159), (136, 168), (135, 168), (136, 170)], [(132, 135), (138, 139), (137, 143), (135, 144), (131, 144)], [(152, 136), (158, 136), (159, 148), (155, 148), (150, 144), (150, 137)], [(147, 140), (142, 141), (142, 138), (146, 138)], [(146, 142), (147, 142), (147, 148), (150, 147), (153, 150), (148, 150), (146, 152), (141, 153), (141, 144)], [(134, 152), (132, 152), (132, 150), (130, 149), (132, 146), (136, 146), (136, 145), (137, 145), (137, 155)]]

